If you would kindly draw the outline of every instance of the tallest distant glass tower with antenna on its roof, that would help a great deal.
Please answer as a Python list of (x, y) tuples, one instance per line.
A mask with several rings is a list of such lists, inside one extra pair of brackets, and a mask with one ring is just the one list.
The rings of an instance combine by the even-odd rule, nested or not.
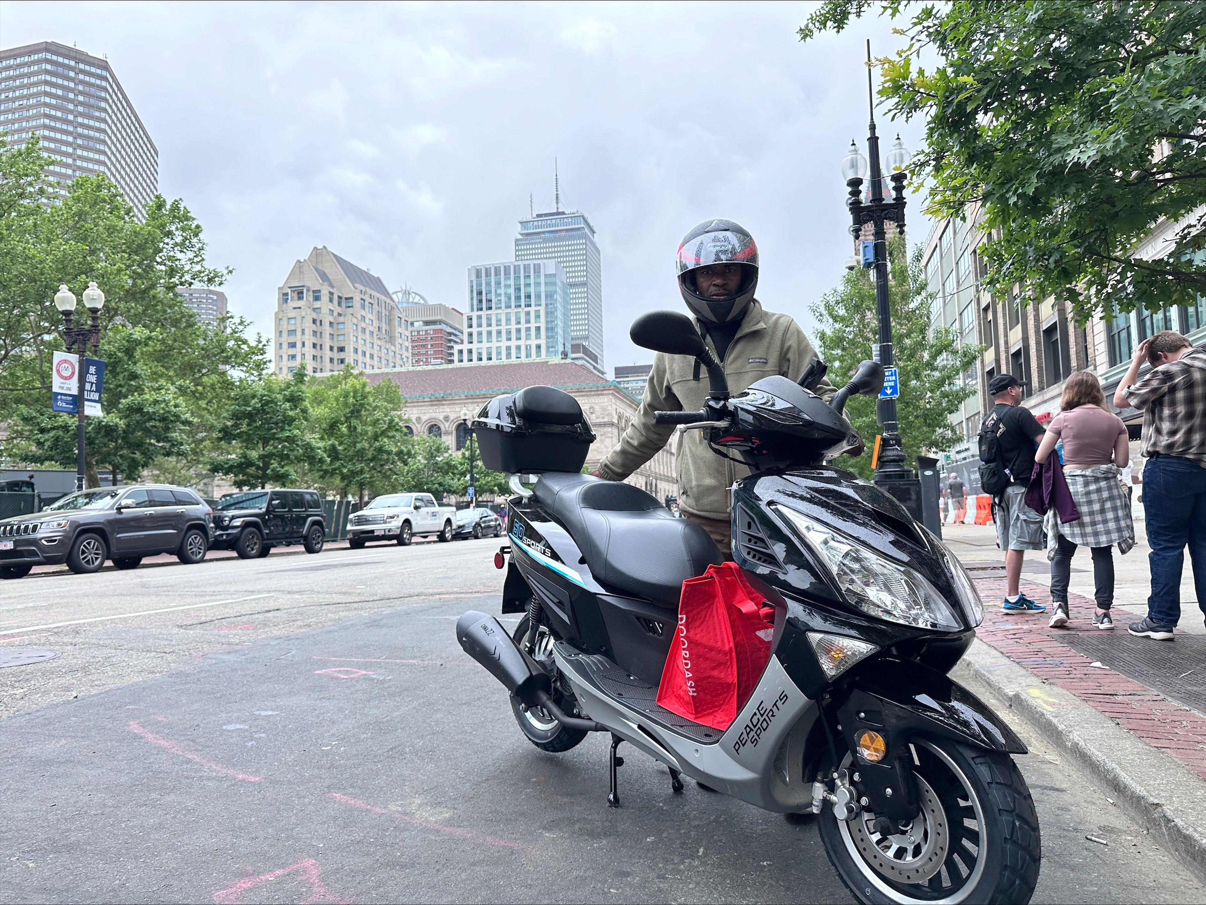
[(605, 375), (603, 269), (599, 247), (595, 242), (595, 227), (585, 213), (561, 210), (560, 183), (555, 198), (556, 211), (520, 221), (515, 260), (551, 258), (566, 269), (566, 282), (569, 286), (569, 357)]

